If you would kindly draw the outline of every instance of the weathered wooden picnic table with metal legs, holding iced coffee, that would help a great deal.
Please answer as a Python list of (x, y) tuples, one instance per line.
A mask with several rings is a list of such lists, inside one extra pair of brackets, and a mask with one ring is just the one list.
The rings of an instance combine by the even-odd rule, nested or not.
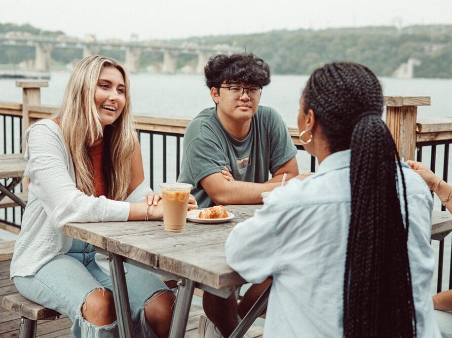
[[(185, 230), (180, 233), (165, 231), (162, 220), (69, 223), (64, 226), (66, 236), (93, 244), (97, 251), (108, 254), (121, 336), (131, 336), (131, 329), (127, 328), (130, 325), (130, 309), (123, 261), (178, 280), (171, 337), (182, 336), (185, 331), (195, 286), (228, 297), (238, 286), (246, 283), (228, 266), (224, 242), (235, 224), (251, 217), (261, 205), (231, 205), (226, 208), (235, 215), (229, 222), (201, 224), (187, 221)], [(440, 239), (451, 231), (450, 213), (434, 211), (432, 238), (436, 236)], [(270, 288), (266, 291), (267, 298), (269, 291)], [(265, 297), (256, 305), (260, 306), (258, 310), (250, 311), (249, 318), (260, 314), (262, 304), (265, 306), (262, 303), (266, 302)], [(238, 332), (246, 331), (246, 326), (250, 325), (249, 318), (242, 321), (241, 325), (245, 328), (239, 328)]]

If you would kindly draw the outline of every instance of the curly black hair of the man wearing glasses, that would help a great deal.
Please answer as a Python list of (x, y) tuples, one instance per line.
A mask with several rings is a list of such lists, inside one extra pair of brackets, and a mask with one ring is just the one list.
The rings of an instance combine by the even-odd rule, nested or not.
[(259, 87), (270, 83), (270, 67), (252, 53), (225, 55), (210, 58), (204, 67), (206, 85), (219, 88), (222, 83), (244, 83)]

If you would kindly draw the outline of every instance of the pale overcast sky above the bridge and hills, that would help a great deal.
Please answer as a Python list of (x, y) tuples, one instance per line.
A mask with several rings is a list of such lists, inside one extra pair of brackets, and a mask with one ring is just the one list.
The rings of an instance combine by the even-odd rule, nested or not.
[(0, 0), (0, 23), (98, 39), (173, 39), (272, 29), (452, 24), (452, 0)]

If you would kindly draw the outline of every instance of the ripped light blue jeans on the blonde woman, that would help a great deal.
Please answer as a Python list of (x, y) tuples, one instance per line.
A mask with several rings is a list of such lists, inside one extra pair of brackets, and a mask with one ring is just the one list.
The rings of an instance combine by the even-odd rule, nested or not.
[[(112, 291), (111, 278), (104, 274), (94, 260), (92, 245), (73, 240), (66, 254), (47, 262), (34, 276), (13, 278), (19, 292), (35, 303), (58, 311), (72, 321), (76, 337), (119, 337), (117, 321), (96, 326), (82, 316), (82, 305), (92, 291), (105, 288)], [(144, 305), (160, 290), (168, 290), (156, 275), (125, 264), (127, 290), (135, 337), (157, 337), (144, 317)]]

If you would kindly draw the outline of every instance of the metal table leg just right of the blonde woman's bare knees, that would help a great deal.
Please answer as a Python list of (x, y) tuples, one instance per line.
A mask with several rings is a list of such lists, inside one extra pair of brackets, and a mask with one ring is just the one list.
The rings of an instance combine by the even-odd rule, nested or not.
[(177, 285), (176, 306), (171, 321), (170, 338), (184, 336), (192, 304), (193, 290), (195, 290), (195, 282), (190, 279), (182, 279), (177, 282)]

